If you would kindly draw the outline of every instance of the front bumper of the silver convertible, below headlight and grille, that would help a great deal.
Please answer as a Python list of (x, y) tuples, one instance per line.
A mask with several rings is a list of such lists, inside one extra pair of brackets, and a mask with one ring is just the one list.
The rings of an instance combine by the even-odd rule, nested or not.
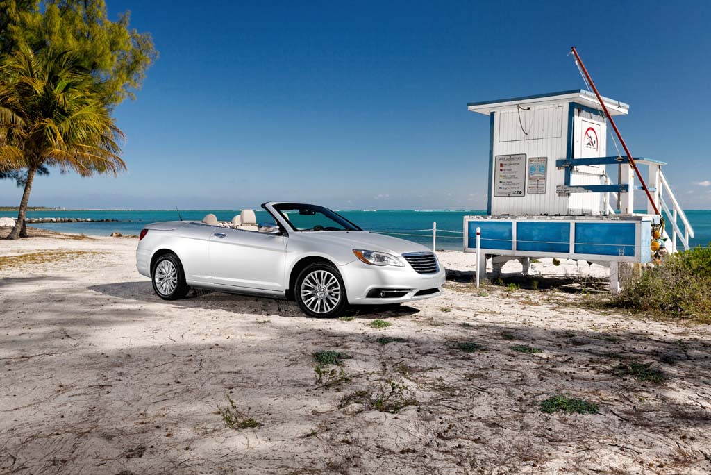
[[(445, 271), (441, 265), (436, 273), (419, 274), (410, 265), (378, 267), (356, 260), (338, 266), (338, 270), (341, 271), (343, 283), (346, 285), (348, 303), (357, 305), (400, 304), (406, 301), (437, 297), (442, 294), (441, 288), (445, 277)], [(388, 290), (407, 290), (407, 293), (401, 297), (367, 297), (369, 293), (371, 295), (379, 294), (380, 289), (386, 292)], [(431, 289), (437, 289), (437, 292), (417, 295), (418, 292)]]

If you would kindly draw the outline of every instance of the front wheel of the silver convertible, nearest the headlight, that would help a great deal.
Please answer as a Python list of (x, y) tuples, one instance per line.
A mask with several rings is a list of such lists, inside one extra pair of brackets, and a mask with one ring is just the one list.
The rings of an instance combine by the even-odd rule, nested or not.
[(341, 272), (327, 262), (316, 262), (299, 272), (294, 297), (304, 314), (321, 319), (339, 316), (348, 306)]

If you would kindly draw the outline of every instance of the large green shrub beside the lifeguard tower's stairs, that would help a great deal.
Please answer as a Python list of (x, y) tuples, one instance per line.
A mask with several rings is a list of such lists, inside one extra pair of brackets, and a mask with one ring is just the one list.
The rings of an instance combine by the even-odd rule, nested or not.
[(711, 248), (695, 247), (643, 269), (612, 299), (613, 306), (665, 316), (711, 318)]

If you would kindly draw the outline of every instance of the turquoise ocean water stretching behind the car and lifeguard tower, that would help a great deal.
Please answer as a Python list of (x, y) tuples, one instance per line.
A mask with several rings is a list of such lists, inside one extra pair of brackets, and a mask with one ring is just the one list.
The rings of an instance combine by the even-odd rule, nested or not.
[[(181, 210), (183, 220), (201, 220), (215, 213), (218, 220), (229, 221), (239, 210)], [(267, 222), (268, 215), (258, 210), (257, 222)], [(437, 248), (457, 250), (463, 247), (462, 230), (465, 215), (484, 215), (483, 210), (338, 210), (364, 230), (395, 235), (432, 245), (432, 223), (437, 223)], [(711, 210), (688, 210), (686, 215), (695, 231), (693, 246), (711, 242)], [(16, 218), (15, 211), (0, 211), (0, 216)], [(138, 234), (144, 225), (178, 220), (176, 210), (38, 210), (28, 211), (28, 218), (112, 219), (109, 223), (36, 223), (32, 226), (60, 233), (107, 236), (111, 233)]]

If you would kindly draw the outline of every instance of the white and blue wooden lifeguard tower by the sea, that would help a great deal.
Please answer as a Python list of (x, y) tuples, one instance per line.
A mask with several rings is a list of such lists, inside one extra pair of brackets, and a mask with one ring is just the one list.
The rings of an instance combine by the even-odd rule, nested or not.
[[(612, 116), (629, 112), (624, 102), (600, 99)], [(634, 212), (642, 187), (624, 152), (606, 146), (601, 100), (567, 90), (468, 105), (490, 121), (487, 215), (464, 218), (465, 251), (476, 251), (481, 228), (481, 275), (487, 259), (495, 273), (508, 260), (520, 260), (524, 272), (535, 257), (584, 260), (609, 267), (610, 290), (619, 292), (631, 263), (658, 252), (653, 241), (666, 252), (689, 247), (693, 228), (664, 178), (665, 163), (634, 159), (648, 168), (652, 198), (646, 213)], [(662, 210), (671, 235), (661, 228), (655, 239)]]

